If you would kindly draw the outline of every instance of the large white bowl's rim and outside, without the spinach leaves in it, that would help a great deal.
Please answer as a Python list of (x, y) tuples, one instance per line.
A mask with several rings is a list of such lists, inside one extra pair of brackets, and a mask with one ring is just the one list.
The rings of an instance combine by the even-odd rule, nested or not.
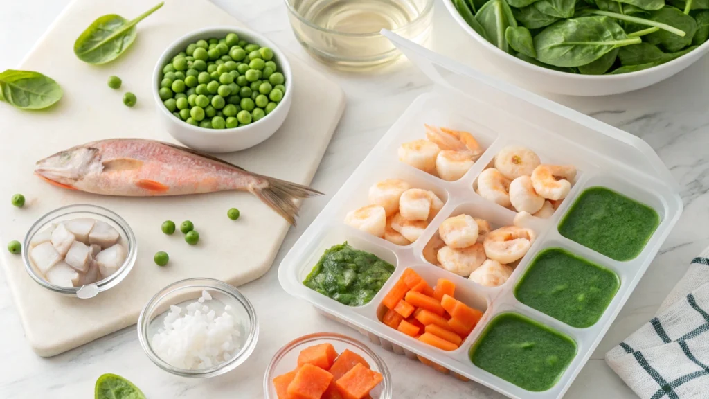
[(479, 48), (490, 54), (495, 65), (518, 84), (540, 92), (566, 94), (570, 96), (606, 96), (642, 89), (675, 75), (692, 65), (709, 51), (709, 40), (686, 55), (652, 67), (647, 70), (622, 75), (575, 75), (549, 70), (520, 60), (514, 55), (497, 48), (481, 35), (473, 31), (455, 9), (451, 0), (444, 0), (448, 12), (463, 30), (471, 35)]

